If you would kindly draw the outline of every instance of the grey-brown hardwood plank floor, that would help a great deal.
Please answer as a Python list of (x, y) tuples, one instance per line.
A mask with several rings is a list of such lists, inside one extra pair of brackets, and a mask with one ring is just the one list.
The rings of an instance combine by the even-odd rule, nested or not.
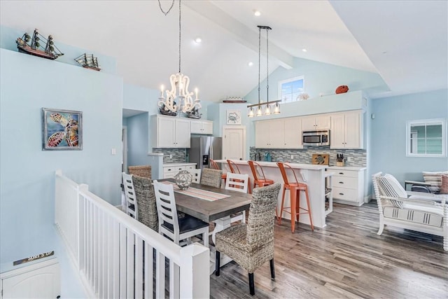
[(442, 237), (387, 226), (377, 235), (377, 203), (335, 204), (327, 227), (275, 225), (275, 272), (248, 274), (235, 262), (210, 276), (211, 298), (448, 298), (448, 252)]

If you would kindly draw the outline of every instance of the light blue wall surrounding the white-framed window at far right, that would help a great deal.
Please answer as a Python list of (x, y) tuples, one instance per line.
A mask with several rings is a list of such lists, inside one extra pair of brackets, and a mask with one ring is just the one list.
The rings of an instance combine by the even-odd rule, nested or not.
[[(447, 171), (448, 158), (406, 157), (406, 122), (448, 119), (448, 90), (372, 100), (370, 175), (393, 174), (400, 183), (423, 180), (423, 171)], [(445, 132), (447, 134), (447, 132)]]

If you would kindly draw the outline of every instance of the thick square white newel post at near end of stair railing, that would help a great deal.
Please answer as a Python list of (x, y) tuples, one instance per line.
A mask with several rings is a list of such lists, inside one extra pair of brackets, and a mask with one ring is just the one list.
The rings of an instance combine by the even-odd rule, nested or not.
[(181, 249), (181, 298), (210, 298), (210, 250), (194, 243)]

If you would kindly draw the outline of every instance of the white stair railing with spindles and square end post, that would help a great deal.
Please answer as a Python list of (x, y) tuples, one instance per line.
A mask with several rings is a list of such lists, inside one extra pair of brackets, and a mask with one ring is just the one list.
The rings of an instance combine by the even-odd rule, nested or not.
[(60, 171), (55, 180), (55, 224), (90, 298), (209, 298), (209, 249), (174, 244)]

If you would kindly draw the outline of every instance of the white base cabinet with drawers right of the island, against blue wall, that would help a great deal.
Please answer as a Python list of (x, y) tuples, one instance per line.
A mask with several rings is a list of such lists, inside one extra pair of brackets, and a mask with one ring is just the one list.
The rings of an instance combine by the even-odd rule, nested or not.
[(328, 167), (332, 176), (332, 195), (335, 202), (360, 206), (364, 203), (365, 167)]

